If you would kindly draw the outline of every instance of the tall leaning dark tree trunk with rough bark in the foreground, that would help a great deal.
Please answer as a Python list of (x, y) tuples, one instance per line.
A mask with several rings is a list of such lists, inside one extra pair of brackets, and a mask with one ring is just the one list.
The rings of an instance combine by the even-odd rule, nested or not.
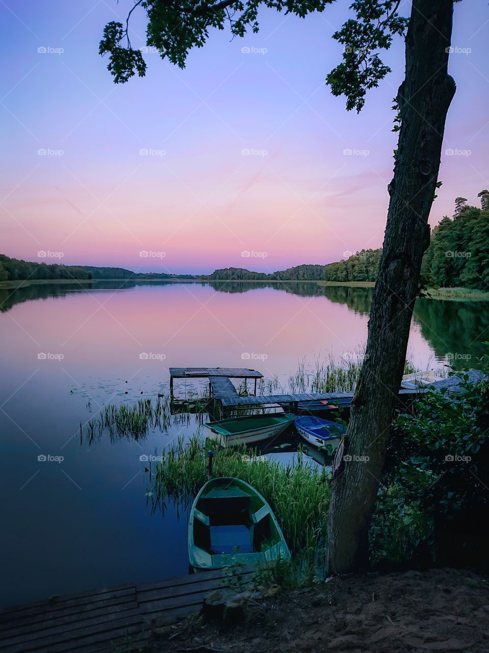
[(413, 0), (411, 8), (406, 76), (397, 97), (402, 122), (366, 355), (348, 434), (333, 469), (328, 521), (331, 573), (368, 564), (368, 526), (398, 402), (422, 255), (430, 242), (428, 215), (445, 120), (455, 92), (447, 73), (452, 13), (452, 0)]

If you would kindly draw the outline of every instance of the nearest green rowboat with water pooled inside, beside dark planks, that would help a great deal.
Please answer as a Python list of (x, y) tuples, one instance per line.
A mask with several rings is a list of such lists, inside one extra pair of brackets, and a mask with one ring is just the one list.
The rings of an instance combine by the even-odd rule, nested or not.
[[(290, 559), (282, 530), (265, 499), (230, 477), (207, 481), (192, 505), (188, 558), (196, 570)], [(232, 559), (232, 560), (231, 560)]]

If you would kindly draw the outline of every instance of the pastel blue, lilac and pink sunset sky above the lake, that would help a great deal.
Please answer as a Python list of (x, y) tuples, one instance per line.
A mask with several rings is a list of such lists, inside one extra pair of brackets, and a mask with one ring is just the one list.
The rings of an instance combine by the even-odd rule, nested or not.
[[(381, 246), (402, 40), (383, 55), (393, 72), (359, 115), (324, 82), (341, 58), (331, 35), (348, 17), (342, 1), (305, 20), (262, 10), (258, 35), (213, 33), (184, 71), (147, 52), (147, 76), (114, 85), (98, 41), (132, 4), (0, 4), (0, 253), (198, 274), (323, 264)], [(400, 12), (409, 15), (408, 1)], [(145, 14), (133, 16), (132, 45), (143, 48)], [(486, 0), (455, 6), (458, 89), (432, 225), (457, 195), (478, 204), (489, 187), (488, 20)]]

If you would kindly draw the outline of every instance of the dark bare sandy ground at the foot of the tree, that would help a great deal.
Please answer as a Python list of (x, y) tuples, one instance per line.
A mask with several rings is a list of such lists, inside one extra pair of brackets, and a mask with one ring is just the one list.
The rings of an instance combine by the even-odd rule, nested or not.
[(152, 653), (489, 652), (488, 577), (460, 569), (334, 577), (251, 601), (243, 622), (195, 616), (155, 633)]

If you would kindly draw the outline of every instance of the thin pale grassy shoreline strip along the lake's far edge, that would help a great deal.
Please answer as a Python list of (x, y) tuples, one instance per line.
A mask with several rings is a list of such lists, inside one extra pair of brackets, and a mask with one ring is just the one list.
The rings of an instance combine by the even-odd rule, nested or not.
[[(120, 281), (123, 284), (130, 281), (132, 283), (213, 283), (213, 282), (244, 282), (244, 283), (317, 283), (323, 287), (340, 287), (347, 288), (374, 288), (375, 281), (318, 281), (313, 279), (20, 279), (19, 281), (0, 281), (0, 290), (17, 290), (26, 288), (31, 285), (84, 285), (93, 283), (103, 283), (106, 281)], [(432, 299), (452, 299), (452, 300), (489, 300), (489, 292), (479, 291), (470, 288), (428, 288), (425, 291)], [(427, 297), (429, 299), (430, 297)]]

